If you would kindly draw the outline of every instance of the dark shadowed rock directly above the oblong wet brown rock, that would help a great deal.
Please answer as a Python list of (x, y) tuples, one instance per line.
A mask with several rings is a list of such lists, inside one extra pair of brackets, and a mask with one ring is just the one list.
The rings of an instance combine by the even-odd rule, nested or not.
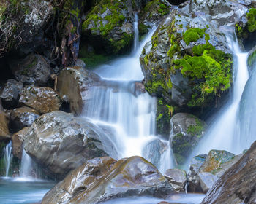
[(10, 61), (15, 79), (25, 85), (47, 85), (52, 74), (48, 60), (42, 55), (30, 54), (23, 60)]

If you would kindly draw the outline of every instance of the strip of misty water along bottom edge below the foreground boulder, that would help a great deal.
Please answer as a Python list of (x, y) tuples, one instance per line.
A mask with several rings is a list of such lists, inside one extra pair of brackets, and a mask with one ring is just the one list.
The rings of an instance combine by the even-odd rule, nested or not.
[(109, 200), (104, 204), (157, 204), (161, 201), (168, 203), (200, 204), (205, 196), (203, 194), (177, 194), (170, 196), (167, 200), (155, 197), (127, 197)]

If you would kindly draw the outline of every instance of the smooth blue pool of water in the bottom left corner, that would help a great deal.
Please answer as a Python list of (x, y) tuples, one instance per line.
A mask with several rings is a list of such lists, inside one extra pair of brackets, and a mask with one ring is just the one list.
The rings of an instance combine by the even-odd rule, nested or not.
[(0, 203), (20, 204), (39, 202), (54, 184), (53, 181), (0, 177)]

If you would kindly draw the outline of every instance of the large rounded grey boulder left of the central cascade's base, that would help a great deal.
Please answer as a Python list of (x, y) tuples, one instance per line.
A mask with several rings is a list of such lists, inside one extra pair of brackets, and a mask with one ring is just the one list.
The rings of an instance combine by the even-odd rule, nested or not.
[(94, 125), (63, 111), (53, 111), (37, 118), (27, 134), (24, 141), (26, 152), (52, 178), (64, 178), (86, 160), (108, 155), (94, 132)]

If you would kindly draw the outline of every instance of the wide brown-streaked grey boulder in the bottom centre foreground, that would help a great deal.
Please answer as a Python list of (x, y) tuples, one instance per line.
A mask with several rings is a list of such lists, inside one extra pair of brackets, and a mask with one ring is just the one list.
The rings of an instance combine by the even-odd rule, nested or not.
[(89, 160), (73, 170), (42, 200), (45, 203), (101, 203), (116, 197), (166, 197), (175, 192), (167, 179), (142, 157), (117, 162), (109, 157)]

